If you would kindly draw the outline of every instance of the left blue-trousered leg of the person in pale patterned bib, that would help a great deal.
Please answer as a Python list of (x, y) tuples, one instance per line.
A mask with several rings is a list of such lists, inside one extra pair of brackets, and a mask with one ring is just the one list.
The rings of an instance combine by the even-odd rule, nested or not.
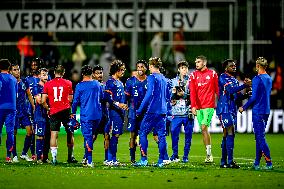
[(178, 156), (178, 141), (179, 141), (179, 134), (180, 128), (182, 125), (183, 118), (181, 117), (174, 117), (172, 120), (172, 127), (171, 127), (171, 137), (172, 137), (172, 151), (173, 154), (171, 156), (171, 161), (179, 162)]

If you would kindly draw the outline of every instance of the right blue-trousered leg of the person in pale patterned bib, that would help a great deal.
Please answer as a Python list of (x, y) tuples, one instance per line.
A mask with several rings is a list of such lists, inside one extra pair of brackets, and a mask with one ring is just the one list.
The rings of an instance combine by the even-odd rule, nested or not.
[(184, 163), (188, 162), (188, 154), (190, 152), (192, 133), (194, 127), (194, 119), (184, 118), (184, 150), (182, 161)]

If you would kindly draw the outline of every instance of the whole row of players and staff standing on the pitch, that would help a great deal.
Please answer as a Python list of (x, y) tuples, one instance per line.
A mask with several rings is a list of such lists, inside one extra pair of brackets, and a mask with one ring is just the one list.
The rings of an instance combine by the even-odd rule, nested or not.
[[(27, 99), (30, 100), (30, 103), (27, 104), (31, 104), (33, 109), (34, 130), (37, 135), (36, 159), (38, 163), (48, 161), (50, 144), (51, 163), (57, 164), (57, 138), (61, 123), (67, 132), (68, 162), (77, 162), (73, 156), (74, 124), (68, 122), (70, 119), (76, 120), (78, 107), (80, 107), (80, 123), (85, 147), (82, 163), (88, 167), (94, 166), (92, 158), (93, 143), (99, 133), (104, 134), (105, 139), (104, 164), (108, 166), (119, 165), (117, 146), (119, 136), (123, 133), (124, 117), (127, 110), (127, 129), (130, 131), (131, 136), (129, 142), (130, 161), (134, 166), (148, 165), (147, 135), (151, 131), (153, 131), (154, 139), (159, 148), (159, 158), (155, 165), (163, 167), (170, 162), (179, 162), (178, 142), (182, 125), (185, 131), (182, 162), (187, 163), (194, 116), (197, 117), (203, 136), (206, 149), (205, 163), (212, 163), (213, 155), (208, 127), (211, 124), (216, 108), (215, 99), (218, 97), (216, 113), (224, 131), (220, 167), (239, 168), (233, 158), (237, 107), (240, 106), (239, 102), (242, 99), (248, 97), (248, 95), (242, 93), (242, 90), (252, 85), (252, 96), (244, 106), (239, 108), (239, 111), (242, 112), (252, 106), (253, 114), (256, 114), (253, 115), (256, 136), (254, 168), (259, 169), (261, 155), (265, 156), (266, 167), (272, 168), (270, 151), (263, 132), (269, 115), (269, 95), (271, 90), (271, 79), (265, 72), (267, 61), (264, 58), (257, 59), (256, 67), (259, 75), (252, 82), (249, 79), (244, 80), (244, 84), (240, 86), (235, 78), (236, 63), (234, 60), (228, 59), (223, 62), (224, 73), (220, 75), (219, 79), (215, 71), (207, 68), (205, 56), (196, 57), (195, 64), (196, 71), (189, 74), (188, 63), (180, 61), (178, 63), (177, 77), (170, 80), (161, 73), (162, 61), (160, 58), (150, 58), (148, 63), (144, 60), (138, 60), (136, 74), (126, 81), (125, 87), (120, 81), (125, 72), (125, 65), (120, 60), (114, 60), (111, 63), (110, 78), (106, 83), (102, 81), (102, 67), (95, 66), (92, 68), (85, 65), (81, 70), (83, 79), (76, 85), (73, 98), (72, 83), (63, 79), (65, 69), (61, 65), (54, 69), (54, 79), (48, 81), (48, 70), (40, 68), (37, 75), (33, 76), (33, 82), (30, 82), (29, 85), (22, 84), (20, 87), (19, 83), (22, 82), (20, 77), (13, 74), (13, 70), (18, 70), (18, 66), (12, 65), (10, 67), (9, 61), (2, 59), (0, 61), (0, 126), (2, 128), (5, 122), (7, 131), (6, 161), (13, 162), (14, 159), (17, 160), (15, 158), (17, 155), (13, 152), (16, 149), (16, 143), (12, 131), (17, 128), (14, 120), (18, 120), (20, 117), (19, 112), (22, 112), (22, 109), (19, 111), (18, 107), (16, 108), (15, 102), (17, 96), (18, 106), (19, 91), (22, 88), (24, 90), (23, 96), (25, 94), (29, 96)], [(147, 69), (150, 71), (148, 76), (146, 76)], [(17, 81), (9, 73), (12, 73)], [(3, 87), (5, 87), (5, 92)], [(29, 92), (30, 89), (32, 92)], [(265, 91), (265, 93), (259, 94), (259, 90)], [(31, 127), (30, 122), (23, 121), (21, 124)], [(171, 157), (167, 153), (167, 128), (170, 128), (172, 139), (173, 153)], [(28, 131), (29, 129), (27, 129), (25, 147), (20, 156), (26, 160), (30, 160), (27, 156), (27, 149), (32, 143)], [(138, 136), (139, 142), (137, 141)], [(141, 151), (141, 159), (136, 162), (135, 152), (137, 146)], [(11, 152), (13, 152), (13, 159), (11, 158)]]

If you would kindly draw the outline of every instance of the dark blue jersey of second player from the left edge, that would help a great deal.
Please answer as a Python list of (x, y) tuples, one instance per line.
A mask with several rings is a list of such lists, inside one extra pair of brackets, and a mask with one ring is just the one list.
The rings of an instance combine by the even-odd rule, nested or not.
[(29, 85), (26, 80), (20, 80), (18, 82), (18, 95), (17, 95), (17, 116), (22, 117), (25, 115), (30, 115), (27, 90)]

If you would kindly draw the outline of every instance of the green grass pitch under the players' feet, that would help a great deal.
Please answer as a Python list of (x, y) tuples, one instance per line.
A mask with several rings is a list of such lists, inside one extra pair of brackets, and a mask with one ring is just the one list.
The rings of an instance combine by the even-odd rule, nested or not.
[[(5, 140), (3, 135), (0, 146), (0, 189), (6, 188), (283, 188), (284, 187), (284, 135), (267, 134), (274, 169), (255, 171), (250, 167), (255, 154), (253, 134), (237, 134), (235, 141), (235, 160), (241, 165), (238, 170), (220, 169), (221, 134), (211, 134), (214, 164), (205, 164), (205, 149), (201, 134), (193, 134), (189, 163), (172, 163), (164, 168), (132, 167), (129, 163), (129, 133), (123, 134), (118, 144), (118, 159), (125, 166), (103, 166), (103, 136), (99, 135), (94, 144), (94, 168), (85, 168), (81, 164), (67, 164), (66, 134), (59, 135), (57, 166), (20, 160), (19, 163), (5, 163)], [(157, 144), (152, 135), (149, 140), (149, 162), (158, 158)], [(24, 134), (17, 138), (17, 151), (21, 153)], [(171, 139), (167, 137), (168, 153), (171, 155)], [(184, 135), (181, 134), (179, 155), (183, 153)], [(75, 157), (79, 161), (83, 156), (83, 137), (75, 135)], [(139, 160), (139, 151), (136, 152)], [(50, 155), (51, 157), (51, 155)], [(262, 160), (262, 166), (265, 165)]]

